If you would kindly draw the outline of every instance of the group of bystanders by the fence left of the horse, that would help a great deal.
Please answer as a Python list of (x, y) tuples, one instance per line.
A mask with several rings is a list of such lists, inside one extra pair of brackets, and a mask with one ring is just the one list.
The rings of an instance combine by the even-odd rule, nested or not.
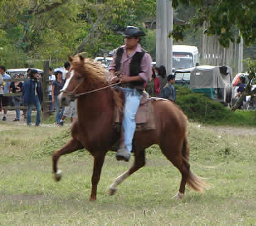
[[(72, 102), (71, 107), (60, 107), (57, 96), (62, 90), (70, 64), (66, 62), (64, 65), (65, 70), (54, 71), (49, 68), (49, 112), (55, 112), (55, 124), (63, 126), (64, 119), (66, 117), (71, 118), (71, 121), (76, 117), (76, 105)], [(24, 79), (26, 81), (14, 81), (9, 82), (7, 79), (12, 79), (7, 73), (5, 66), (0, 66), (0, 111), (3, 110), (2, 121), (7, 121), (7, 109), (4, 107), (14, 106), (16, 116), (13, 121), (20, 121), (20, 107), (21, 105), (27, 108), (23, 110), (23, 116), (27, 125), (31, 125), (32, 109), (35, 108), (37, 116), (35, 119), (35, 126), (40, 125), (41, 118), (41, 103), (43, 101), (43, 90), (40, 78), (43, 77), (43, 73), (39, 73), (36, 69), (28, 69), (25, 74), (15, 74), (14, 79)], [(19, 96), (5, 96), (4, 94), (19, 93)], [(21, 93), (21, 95), (20, 95)], [(3, 109), (4, 108), (4, 109)]]

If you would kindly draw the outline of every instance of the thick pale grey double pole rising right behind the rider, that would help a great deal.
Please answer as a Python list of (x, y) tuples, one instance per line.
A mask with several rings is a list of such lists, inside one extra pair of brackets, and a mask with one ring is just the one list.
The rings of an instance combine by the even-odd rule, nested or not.
[(157, 0), (157, 66), (164, 65), (167, 74), (172, 72), (172, 38), (168, 38), (173, 24), (171, 4), (171, 0)]

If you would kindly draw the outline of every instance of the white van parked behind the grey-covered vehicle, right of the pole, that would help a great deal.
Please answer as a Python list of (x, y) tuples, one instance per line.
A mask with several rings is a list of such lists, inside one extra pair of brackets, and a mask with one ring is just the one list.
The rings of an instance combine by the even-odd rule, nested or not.
[(196, 46), (173, 45), (172, 68), (187, 69), (199, 65), (199, 52)]

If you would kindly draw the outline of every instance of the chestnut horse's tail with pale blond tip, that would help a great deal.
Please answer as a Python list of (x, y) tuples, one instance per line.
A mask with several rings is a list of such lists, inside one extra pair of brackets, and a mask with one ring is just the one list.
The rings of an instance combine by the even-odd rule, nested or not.
[(188, 163), (188, 158), (190, 156), (190, 147), (188, 146), (187, 137), (183, 141), (183, 147), (182, 147), (182, 159), (185, 167), (187, 168), (187, 183), (190, 188), (192, 188), (194, 191), (197, 192), (204, 192), (204, 189), (208, 188), (209, 185), (203, 181), (204, 178), (198, 177), (194, 175), (190, 171), (190, 163)]

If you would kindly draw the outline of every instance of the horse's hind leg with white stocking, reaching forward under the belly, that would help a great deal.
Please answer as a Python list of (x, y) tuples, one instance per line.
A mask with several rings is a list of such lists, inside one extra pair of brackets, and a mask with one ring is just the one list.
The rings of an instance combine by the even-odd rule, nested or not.
[(138, 169), (140, 169), (141, 167), (143, 167), (146, 163), (145, 160), (145, 150), (136, 150), (135, 151), (135, 160), (134, 163), (132, 165), (132, 167), (124, 172), (122, 175), (119, 175), (119, 177), (116, 178), (115, 182), (110, 186), (110, 188), (108, 189), (108, 194), (110, 196), (113, 196), (113, 194), (115, 194), (116, 190), (117, 190), (117, 186), (122, 183), (127, 177), (129, 177), (129, 175), (133, 174), (133, 172), (137, 171)]

